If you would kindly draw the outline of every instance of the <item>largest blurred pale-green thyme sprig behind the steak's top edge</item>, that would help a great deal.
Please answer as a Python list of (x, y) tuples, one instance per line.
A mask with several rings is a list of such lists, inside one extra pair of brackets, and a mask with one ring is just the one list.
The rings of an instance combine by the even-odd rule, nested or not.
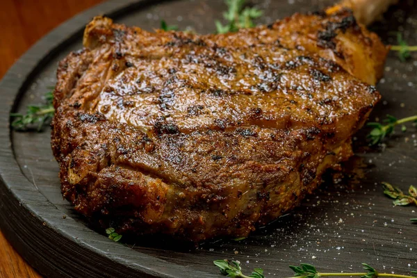
[(236, 32), (240, 28), (255, 26), (253, 19), (261, 17), (262, 10), (245, 6), (245, 0), (224, 0), (227, 10), (223, 13), (227, 24), (223, 25), (219, 20), (215, 21), (217, 33)]

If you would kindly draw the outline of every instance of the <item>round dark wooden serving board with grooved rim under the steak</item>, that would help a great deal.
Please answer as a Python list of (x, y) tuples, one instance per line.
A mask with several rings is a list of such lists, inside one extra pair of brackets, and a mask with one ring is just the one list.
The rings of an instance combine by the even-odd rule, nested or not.
[[(265, 10), (259, 23), (317, 10), (331, 1), (254, 1)], [(417, 44), (417, 5), (402, 1), (384, 21), (372, 26), (384, 42), (402, 31)], [(220, 277), (215, 259), (235, 259), (244, 270), (261, 267), (267, 277), (291, 276), (288, 265), (313, 263), (320, 270), (352, 272), (366, 262), (379, 270), (417, 270), (416, 207), (393, 207), (381, 181), (406, 190), (417, 185), (417, 136), (409, 126), (386, 146), (363, 144), (357, 134), (357, 156), (345, 164), (340, 179), (329, 179), (315, 195), (289, 215), (261, 227), (250, 238), (218, 240), (198, 247), (161, 240), (114, 243), (93, 231), (60, 195), (58, 165), (51, 154), (49, 129), (43, 133), (10, 132), (10, 111), (42, 103), (54, 85), (58, 60), (81, 48), (83, 26), (95, 15), (147, 30), (163, 18), (181, 29), (214, 31), (222, 0), (108, 1), (77, 15), (40, 40), (9, 70), (0, 83), (0, 227), (22, 256), (47, 277)], [(391, 53), (379, 84), (384, 96), (371, 119), (385, 114), (404, 117), (417, 111), (417, 60), (401, 63)]]

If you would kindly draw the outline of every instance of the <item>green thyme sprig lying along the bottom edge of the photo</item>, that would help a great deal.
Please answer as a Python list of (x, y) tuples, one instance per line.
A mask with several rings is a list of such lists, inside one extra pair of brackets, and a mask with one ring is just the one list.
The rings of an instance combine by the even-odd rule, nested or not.
[[(261, 268), (255, 268), (252, 275), (246, 276), (242, 273), (242, 268), (240, 268), (240, 263), (238, 261), (227, 261), (227, 260), (217, 260), (213, 263), (220, 268), (222, 275), (232, 278), (265, 278), (263, 275), (263, 270)], [(320, 278), (320, 277), (361, 277), (361, 278), (378, 278), (378, 277), (398, 277), (398, 278), (416, 278), (409, 275), (398, 275), (390, 273), (378, 273), (375, 268), (371, 267), (367, 263), (362, 263), (363, 269), (366, 272), (361, 273), (322, 273), (316, 270), (316, 267), (308, 263), (301, 263), (300, 266), (290, 265), (291, 270), (294, 271), (293, 277), (288, 278)], [(412, 271), (411, 273), (417, 273)]]

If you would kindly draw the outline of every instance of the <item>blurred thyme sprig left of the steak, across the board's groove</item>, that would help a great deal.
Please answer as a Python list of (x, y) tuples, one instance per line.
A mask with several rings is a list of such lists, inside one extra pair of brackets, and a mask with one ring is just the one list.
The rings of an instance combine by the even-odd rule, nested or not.
[(21, 113), (10, 113), (10, 117), (14, 117), (15, 120), (12, 122), (13, 129), (19, 131), (26, 131), (33, 126), (36, 126), (36, 130), (42, 131), (44, 124), (49, 122), (54, 117), (54, 95), (52, 92), (47, 92), (44, 96), (47, 101), (44, 105), (29, 105), (27, 107), (26, 115)]

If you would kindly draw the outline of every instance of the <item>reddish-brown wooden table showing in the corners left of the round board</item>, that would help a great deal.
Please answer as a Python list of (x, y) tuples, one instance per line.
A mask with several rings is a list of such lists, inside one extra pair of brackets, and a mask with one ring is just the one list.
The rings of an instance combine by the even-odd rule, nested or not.
[[(43, 35), (103, 0), (3, 0), (0, 9), (0, 79), (17, 58)], [(41, 277), (0, 231), (0, 277)]]

